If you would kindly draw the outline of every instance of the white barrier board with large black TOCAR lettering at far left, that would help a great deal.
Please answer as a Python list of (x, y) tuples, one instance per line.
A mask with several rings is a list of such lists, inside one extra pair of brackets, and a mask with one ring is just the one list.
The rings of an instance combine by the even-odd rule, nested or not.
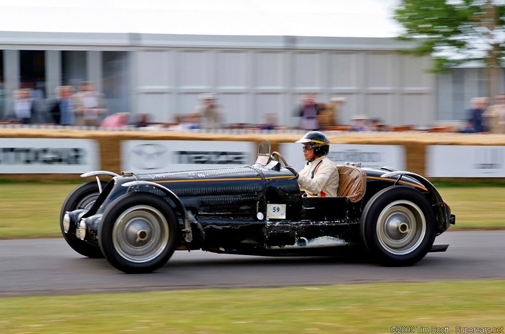
[(93, 139), (0, 139), (3, 174), (77, 174), (99, 166), (98, 144)]

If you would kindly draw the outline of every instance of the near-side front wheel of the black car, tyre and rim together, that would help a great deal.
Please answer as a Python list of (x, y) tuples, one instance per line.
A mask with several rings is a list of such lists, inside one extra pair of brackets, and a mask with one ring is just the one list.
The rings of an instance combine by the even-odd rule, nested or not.
[(98, 227), (98, 242), (117, 269), (147, 273), (167, 263), (178, 234), (178, 221), (167, 201), (139, 192), (125, 194), (109, 205)]

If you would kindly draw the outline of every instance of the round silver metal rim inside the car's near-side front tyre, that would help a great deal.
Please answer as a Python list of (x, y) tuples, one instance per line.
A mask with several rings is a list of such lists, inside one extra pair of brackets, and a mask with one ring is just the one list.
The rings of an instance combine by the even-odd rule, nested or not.
[(136, 263), (154, 260), (166, 249), (169, 239), (165, 216), (146, 205), (125, 210), (116, 219), (112, 233), (119, 255)]

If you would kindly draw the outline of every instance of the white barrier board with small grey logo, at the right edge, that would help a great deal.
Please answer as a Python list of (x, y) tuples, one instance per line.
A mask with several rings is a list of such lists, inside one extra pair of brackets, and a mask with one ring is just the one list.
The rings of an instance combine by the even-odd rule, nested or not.
[(505, 146), (426, 147), (428, 177), (505, 177)]

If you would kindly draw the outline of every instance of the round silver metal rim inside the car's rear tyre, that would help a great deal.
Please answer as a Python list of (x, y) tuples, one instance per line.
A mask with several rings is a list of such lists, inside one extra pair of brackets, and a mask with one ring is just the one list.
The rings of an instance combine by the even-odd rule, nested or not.
[(426, 219), (419, 206), (410, 201), (387, 205), (377, 220), (379, 243), (388, 252), (408, 254), (419, 247), (426, 234)]

